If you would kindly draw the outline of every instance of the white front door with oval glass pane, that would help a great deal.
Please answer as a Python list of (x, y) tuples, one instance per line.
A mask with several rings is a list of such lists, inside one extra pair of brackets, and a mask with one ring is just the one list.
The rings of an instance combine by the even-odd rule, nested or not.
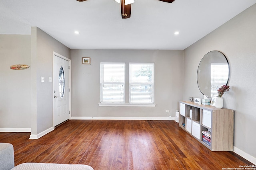
[(69, 119), (69, 61), (53, 56), (53, 125)]

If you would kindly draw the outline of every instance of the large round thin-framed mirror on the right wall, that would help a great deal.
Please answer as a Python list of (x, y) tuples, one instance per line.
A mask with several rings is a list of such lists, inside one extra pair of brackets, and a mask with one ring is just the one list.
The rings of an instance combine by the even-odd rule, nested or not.
[(197, 70), (197, 84), (203, 95), (212, 98), (218, 96), (218, 89), (227, 85), (229, 64), (226, 56), (220, 51), (210, 51), (200, 61)]

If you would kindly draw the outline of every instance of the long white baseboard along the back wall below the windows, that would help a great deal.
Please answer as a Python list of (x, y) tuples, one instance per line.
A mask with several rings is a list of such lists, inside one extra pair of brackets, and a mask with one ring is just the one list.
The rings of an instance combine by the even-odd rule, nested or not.
[(71, 117), (71, 120), (175, 120), (175, 117)]

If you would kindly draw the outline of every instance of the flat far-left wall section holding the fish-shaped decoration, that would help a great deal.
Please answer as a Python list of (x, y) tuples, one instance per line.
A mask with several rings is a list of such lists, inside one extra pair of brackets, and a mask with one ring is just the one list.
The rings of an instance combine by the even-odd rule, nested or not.
[(30, 35), (0, 35), (0, 128), (30, 128)]

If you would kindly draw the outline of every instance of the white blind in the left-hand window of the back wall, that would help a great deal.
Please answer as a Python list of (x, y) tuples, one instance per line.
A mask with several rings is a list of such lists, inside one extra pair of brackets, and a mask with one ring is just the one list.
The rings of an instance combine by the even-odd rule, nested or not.
[(125, 63), (100, 63), (100, 102), (124, 103)]

